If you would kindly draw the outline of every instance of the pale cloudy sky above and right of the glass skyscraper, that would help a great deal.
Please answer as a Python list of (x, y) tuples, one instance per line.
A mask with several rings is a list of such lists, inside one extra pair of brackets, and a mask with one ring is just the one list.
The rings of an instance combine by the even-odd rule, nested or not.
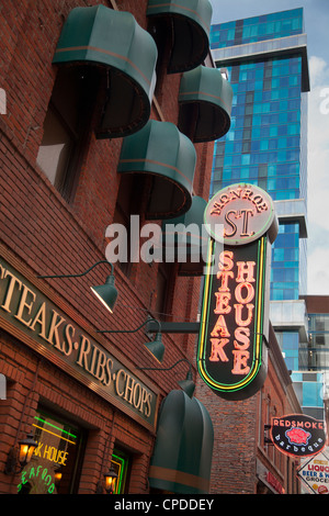
[(329, 0), (209, 0), (212, 23), (304, 8), (308, 93), (307, 294), (329, 295)]

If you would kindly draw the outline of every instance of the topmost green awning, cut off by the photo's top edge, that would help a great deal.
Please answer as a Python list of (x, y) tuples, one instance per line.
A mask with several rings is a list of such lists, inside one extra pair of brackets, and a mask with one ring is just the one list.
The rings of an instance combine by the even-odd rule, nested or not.
[(169, 74), (201, 65), (209, 52), (213, 8), (208, 0), (148, 0), (151, 34), (164, 33), (170, 42)]

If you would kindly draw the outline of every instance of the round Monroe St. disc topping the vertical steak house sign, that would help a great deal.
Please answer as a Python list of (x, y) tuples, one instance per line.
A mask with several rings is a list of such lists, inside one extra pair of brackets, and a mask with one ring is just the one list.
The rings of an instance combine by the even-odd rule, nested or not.
[(209, 236), (217, 238), (216, 224), (223, 224), (224, 244), (242, 246), (268, 233), (277, 235), (277, 220), (271, 197), (254, 184), (238, 183), (224, 188), (208, 202), (204, 222)]

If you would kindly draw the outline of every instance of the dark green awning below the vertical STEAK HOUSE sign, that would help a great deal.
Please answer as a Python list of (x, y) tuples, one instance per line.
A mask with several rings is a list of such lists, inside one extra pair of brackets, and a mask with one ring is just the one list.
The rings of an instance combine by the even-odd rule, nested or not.
[(183, 391), (171, 391), (160, 410), (150, 486), (170, 493), (208, 493), (213, 445), (213, 424), (204, 405)]

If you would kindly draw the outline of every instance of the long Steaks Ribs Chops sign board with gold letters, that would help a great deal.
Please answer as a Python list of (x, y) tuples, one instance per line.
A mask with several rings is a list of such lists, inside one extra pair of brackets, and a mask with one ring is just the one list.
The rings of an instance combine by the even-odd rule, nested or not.
[(97, 334), (77, 324), (4, 258), (0, 258), (0, 326), (155, 430), (158, 394), (110, 354)]

